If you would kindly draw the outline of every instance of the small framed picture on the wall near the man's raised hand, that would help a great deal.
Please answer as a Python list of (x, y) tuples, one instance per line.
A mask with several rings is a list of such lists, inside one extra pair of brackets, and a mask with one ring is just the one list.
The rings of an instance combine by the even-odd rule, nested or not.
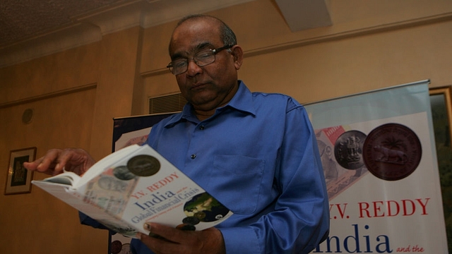
[(4, 195), (31, 192), (33, 171), (25, 169), (23, 162), (32, 162), (35, 157), (36, 147), (11, 150)]

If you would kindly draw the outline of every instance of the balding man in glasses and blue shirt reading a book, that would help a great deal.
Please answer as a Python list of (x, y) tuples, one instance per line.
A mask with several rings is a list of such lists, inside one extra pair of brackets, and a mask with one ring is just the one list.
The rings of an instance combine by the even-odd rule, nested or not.
[[(243, 51), (218, 18), (188, 16), (169, 43), (189, 103), (153, 126), (148, 144), (234, 214), (215, 228), (182, 231), (146, 223), (134, 253), (309, 253), (328, 235), (328, 196), (316, 138), (291, 97), (250, 92), (237, 71)], [(26, 167), (79, 174), (83, 150), (50, 150)], [(38, 166), (39, 165), (39, 166)]]

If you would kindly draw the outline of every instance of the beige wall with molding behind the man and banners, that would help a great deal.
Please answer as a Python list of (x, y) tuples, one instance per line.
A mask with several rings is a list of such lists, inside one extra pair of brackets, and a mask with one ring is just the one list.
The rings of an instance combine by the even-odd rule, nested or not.
[[(452, 85), (452, 1), (335, 0), (333, 26), (290, 32), (270, 0), (210, 14), (230, 24), (245, 51), (239, 78), (254, 91), (315, 102), (431, 80)], [(165, 70), (175, 22), (130, 28), (100, 42), (0, 68), (0, 174), (10, 150), (111, 150), (112, 118), (146, 113), (148, 97), (177, 92)], [(31, 123), (21, 123), (25, 109)], [(35, 174), (35, 179), (44, 178)], [(0, 195), (5, 253), (107, 253), (107, 233), (78, 224), (77, 212), (33, 187)]]

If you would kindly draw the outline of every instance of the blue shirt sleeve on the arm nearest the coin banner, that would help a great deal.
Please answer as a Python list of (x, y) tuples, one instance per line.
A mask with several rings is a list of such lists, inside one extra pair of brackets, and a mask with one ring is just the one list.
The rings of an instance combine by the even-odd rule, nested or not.
[(275, 184), (280, 195), (271, 212), (249, 226), (220, 228), (227, 253), (309, 253), (328, 236), (328, 194), (319, 149), (300, 105), (286, 114)]

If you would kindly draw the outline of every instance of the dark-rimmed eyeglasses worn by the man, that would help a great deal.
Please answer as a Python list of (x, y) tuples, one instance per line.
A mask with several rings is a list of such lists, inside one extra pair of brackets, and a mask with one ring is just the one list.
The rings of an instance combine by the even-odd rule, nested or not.
[(167, 68), (169, 68), (169, 71), (171, 71), (174, 75), (179, 75), (188, 70), (190, 60), (193, 60), (199, 67), (206, 66), (215, 61), (215, 55), (218, 54), (218, 52), (232, 47), (234, 47), (234, 45), (227, 45), (219, 47), (218, 49), (203, 50), (202, 52), (196, 53), (191, 59), (174, 60), (168, 64)]

